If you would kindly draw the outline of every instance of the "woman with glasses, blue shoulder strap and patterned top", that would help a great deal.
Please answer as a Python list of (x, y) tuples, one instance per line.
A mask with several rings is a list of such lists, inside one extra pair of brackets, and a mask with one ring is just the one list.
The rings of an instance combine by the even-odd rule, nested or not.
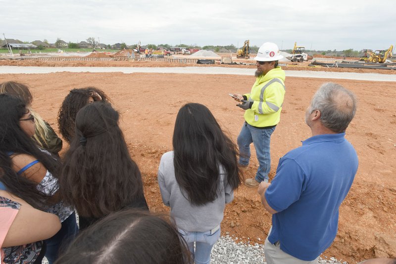
[[(36, 209), (56, 214), (61, 229), (46, 240), (46, 257), (52, 264), (62, 242), (78, 232), (73, 209), (59, 201), (57, 175), (60, 161), (32, 140), (35, 119), (19, 98), (0, 94), (0, 177), (5, 189)], [(35, 226), (32, 226), (32, 229)]]

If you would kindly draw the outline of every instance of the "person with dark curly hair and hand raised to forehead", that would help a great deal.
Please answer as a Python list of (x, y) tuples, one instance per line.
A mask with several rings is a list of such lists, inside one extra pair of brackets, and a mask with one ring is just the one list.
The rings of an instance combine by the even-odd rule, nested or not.
[(74, 137), (74, 121), (77, 112), (93, 102), (109, 102), (104, 92), (95, 87), (73, 89), (63, 100), (58, 113), (58, 126), (60, 134), (70, 144)]

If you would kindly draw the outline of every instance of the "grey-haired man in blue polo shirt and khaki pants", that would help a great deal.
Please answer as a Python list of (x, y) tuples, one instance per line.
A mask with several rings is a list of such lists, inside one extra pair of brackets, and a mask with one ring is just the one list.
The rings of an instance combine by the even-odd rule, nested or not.
[(305, 113), (312, 137), (279, 160), (271, 183), (260, 183), (261, 202), (273, 214), (267, 264), (318, 263), (333, 243), (339, 207), (357, 171), (356, 151), (345, 139), (355, 112), (352, 92), (322, 85)]

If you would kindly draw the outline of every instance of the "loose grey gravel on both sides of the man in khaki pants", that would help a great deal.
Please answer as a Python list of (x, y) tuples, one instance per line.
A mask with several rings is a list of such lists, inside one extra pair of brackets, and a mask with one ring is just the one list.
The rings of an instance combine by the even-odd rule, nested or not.
[[(264, 245), (255, 243), (254, 245), (235, 242), (237, 237), (230, 237), (229, 234), (222, 236), (214, 244), (210, 259), (211, 264), (266, 264), (264, 257)], [(339, 262), (331, 257), (322, 259), (319, 257), (319, 263), (327, 264), (347, 264)]]

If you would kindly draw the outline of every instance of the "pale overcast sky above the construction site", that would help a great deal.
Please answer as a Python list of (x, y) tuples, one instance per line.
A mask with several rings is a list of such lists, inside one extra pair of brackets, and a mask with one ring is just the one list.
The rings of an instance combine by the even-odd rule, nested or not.
[(134, 45), (388, 49), (396, 1), (363, 0), (0, 0), (0, 38), (66, 42), (99, 38)]

